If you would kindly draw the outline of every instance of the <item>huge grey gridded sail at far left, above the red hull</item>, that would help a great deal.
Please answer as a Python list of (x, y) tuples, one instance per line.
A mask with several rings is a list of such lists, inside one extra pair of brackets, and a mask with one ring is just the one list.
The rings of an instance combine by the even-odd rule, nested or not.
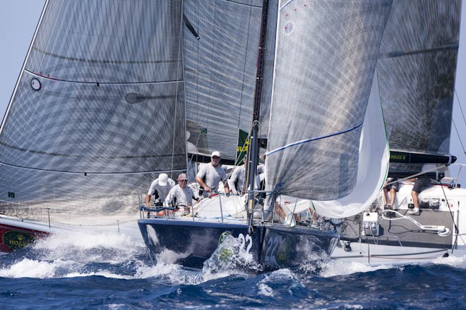
[(180, 26), (181, 0), (47, 1), (1, 128), (0, 196), (20, 204), (1, 213), (136, 215), (186, 169)]

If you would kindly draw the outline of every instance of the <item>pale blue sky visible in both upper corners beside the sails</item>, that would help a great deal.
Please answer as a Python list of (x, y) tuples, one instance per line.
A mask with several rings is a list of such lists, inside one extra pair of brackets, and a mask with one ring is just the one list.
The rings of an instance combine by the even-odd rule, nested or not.
[[(16, 80), (23, 67), (25, 56), (40, 18), (44, 0), (2, 1), (0, 10), (0, 116), (4, 116), (13, 94)], [(466, 1), (462, 6), (460, 29), (460, 49), (456, 73), (456, 94), (453, 108), (450, 153), (457, 156), (457, 163), (466, 163)], [(458, 101), (459, 99), (459, 101)], [(462, 112), (461, 112), (462, 109)], [(464, 148), (461, 144), (464, 144)], [(461, 173), (462, 187), (466, 187), (466, 166)]]

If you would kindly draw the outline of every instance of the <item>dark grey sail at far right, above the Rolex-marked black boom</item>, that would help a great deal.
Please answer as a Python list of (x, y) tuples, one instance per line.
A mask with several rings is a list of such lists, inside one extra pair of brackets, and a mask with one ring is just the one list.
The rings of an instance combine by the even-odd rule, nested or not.
[[(393, 1), (377, 63), (390, 149), (445, 155), (450, 147), (461, 1)], [(422, 164), (390, 164), (390, 173)]]

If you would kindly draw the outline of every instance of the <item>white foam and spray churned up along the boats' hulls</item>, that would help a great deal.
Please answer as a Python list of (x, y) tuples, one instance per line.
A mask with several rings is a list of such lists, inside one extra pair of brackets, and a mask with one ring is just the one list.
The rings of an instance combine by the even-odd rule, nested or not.
[[(433, 262), (453, 268), (466, 268), (465, 256), (450, 256)], [(432, 263), (431, 263), (432, 264)], [(404, 266), (367, 266), (364, 263), (323, 260), (265, 273), (259, 283), (260, 294), (268, 295), (273, 288), (268, 281), (275, 278), (332, 278), (354, 273), (369, 273)], [(263, 271), (244, 250), (241, 240), (230, 235), (205, 261), (201, 271), (150, 260), (141, 240), (117, 232), (81, 230), (64, 231), (37, 241), (30, 247), (0, 256), (0, 277), (3, 278), (73, 278), (100, 275), (117, 279), (157, 278), (173, 285), (198, 285), (229, 276), (255, 278)], [(286, 276), (285, 276), (286, 275)], [(298, 281), (299, 282), (299, 281)]]

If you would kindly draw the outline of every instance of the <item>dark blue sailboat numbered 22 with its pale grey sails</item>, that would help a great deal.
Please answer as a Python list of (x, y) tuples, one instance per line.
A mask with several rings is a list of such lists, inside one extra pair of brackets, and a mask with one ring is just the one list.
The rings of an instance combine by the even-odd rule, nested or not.
[[(335, 223), (322, 229), (294, 225), (292, 219), (277, 223), (273, 209), (276, 204), (294, 211), (303, 205), (309, 209), (312, 199), (342, 199), (364, 186), (363, 197), (354, 201), (361, 212), (381, 189), (388, 145), (380, 101), (369, 97), (391, 1), (215, 1), (215, 5), (184, 1), (180, 5), (186, 111), (193, 104), (211, 110), (245, 97), (243, 106), (253, 103), (251, 183), (246, 202), (219, 194), (204, 199), (188, 216), (139, 220), (151, 256), (155, 261), (202, 268), (220, 249), (223, 259), (232, 259), (236, 252), (249, 254), (263, 269), (328, 258), (339, 240)], [(235, 89), (233, 82), (238, 80)], [(242, 97), (229, 97), (221, 87), (224, 83), (228, 92), (240, 92)], [(193, 101), (189, 94), (196, 94)], [(219, 119), (223, 125), (232, 117), (230, 110), (209, 111), (213, 115), (203, 122)], [(186, 124), (191, 123), (189, 118), (188, 112)], [(199, 127), (207, 134), (215, 128), (213, 123)], [(254, 196), (258, 192), (251, 189), (259, 138), (264, 135), (267, 197), (261, 204)], [(215, 150), (217, 145), (209, 147)], [(236, 151), (236, 144), (229, 149)], [(229, 151), (220, 153), (223, 157)], [(378, 168), (369, 169), (367, 158)], [(239, 240), (236, 252), (221, 250), (229, 237)]]

